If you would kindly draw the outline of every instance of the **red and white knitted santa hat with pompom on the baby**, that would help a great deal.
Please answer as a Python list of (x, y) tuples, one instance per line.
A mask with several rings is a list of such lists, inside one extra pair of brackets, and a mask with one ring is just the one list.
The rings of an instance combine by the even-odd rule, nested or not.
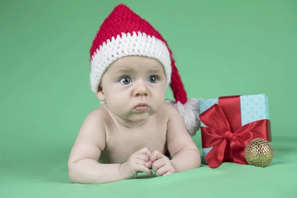
[(200, 127), (198, 99), (187, 99), (175, 60), (167, 42), (145, 19), (124, 4), (117, 5), (104, 20), (90, 49), (91, 89), (97, 93), (101, 77), (116, 59), (128, 55), (142, 55), (159, 60), (164, 68), (167, 86), (170, 85), (175, 106), (184, 119), (191, 136)]

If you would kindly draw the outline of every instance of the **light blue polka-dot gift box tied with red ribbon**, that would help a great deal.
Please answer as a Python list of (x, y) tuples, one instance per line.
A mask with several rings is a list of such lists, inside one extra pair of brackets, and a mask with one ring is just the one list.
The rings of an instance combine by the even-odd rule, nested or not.
[(203, 163), (211, 168), (222, 162), (248, 164), (248, 142), (271, 142), (268, 98), (265, 94), (200, 99)]

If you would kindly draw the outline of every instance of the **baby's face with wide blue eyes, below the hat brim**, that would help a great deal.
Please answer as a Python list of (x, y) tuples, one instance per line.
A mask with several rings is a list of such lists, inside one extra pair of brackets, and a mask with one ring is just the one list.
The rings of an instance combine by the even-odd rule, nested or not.
[[(101, 86), (113, 114), (131, 121), (144, 121), (164, 103), (166, 77), (158, 60), (127, 56), (109, 66)], [(148, 107), (137, 107), (143, 103)]]

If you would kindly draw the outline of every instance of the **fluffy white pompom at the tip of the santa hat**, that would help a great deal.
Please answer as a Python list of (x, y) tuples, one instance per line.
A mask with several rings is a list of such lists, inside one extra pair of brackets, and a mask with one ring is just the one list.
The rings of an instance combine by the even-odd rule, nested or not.
[(185, 104), (180, 101), (172, 101), (166, 99), (172, 106), (176, 107), (181, 116), (183, 117), (185, 127), (188, 133), (193, 137), (200, 128), (199, 119), (199, 99), (190, 99)]

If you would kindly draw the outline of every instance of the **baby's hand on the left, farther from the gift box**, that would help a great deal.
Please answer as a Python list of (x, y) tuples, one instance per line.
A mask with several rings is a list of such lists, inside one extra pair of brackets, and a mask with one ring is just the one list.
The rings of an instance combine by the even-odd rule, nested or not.
[(120, 167), (120, 173), (125, 179), (134, 179), (138, 172), (145, 172), (151, 175), (151, 162), (149, 160), (150, 151), (148, 148), (142, 148), (134, 152)]

